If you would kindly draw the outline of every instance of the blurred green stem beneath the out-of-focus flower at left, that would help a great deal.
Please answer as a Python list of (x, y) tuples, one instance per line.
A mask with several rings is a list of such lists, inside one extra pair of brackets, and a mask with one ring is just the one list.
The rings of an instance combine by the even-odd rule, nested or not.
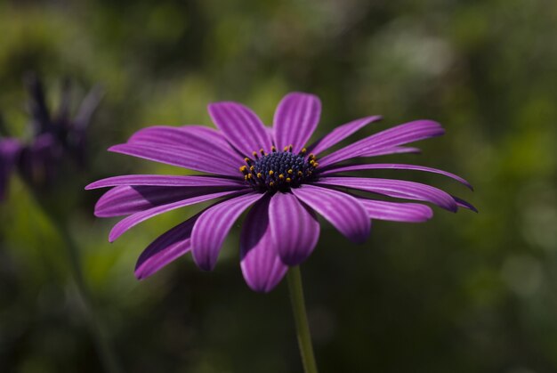
[(104, 328), (102, 328), (101, 325), (101, 320), (99, 320), (96, 312), (94, 312), (89, 288), (87, 287), (83, 271), (81, 270), (79, 248), (77, 247), (75, 241), (71, 238), (63, 219), (60, 219), (56, 214), (53, 214), (46, 206), (43, 199), (39, 196), (35, 197), (37, 205), (41, 207), (44, 215), (49, 218), (50, 222), (56, 231), (58, 231), (63, 241), (63, 246), (66, 249), (66, 254), (69, 259), (69, 267), (76, 283), (81, 303), (83, 304), (82, 312), (84, 313), (85, 320), (87, 321), (88, 327), (90, 328), (93, 336), (102, 368), (106, 373), (121, 373), (122, 370), (117, 362), (114, 349), (109, 343), (109, 338), (105, 335)]

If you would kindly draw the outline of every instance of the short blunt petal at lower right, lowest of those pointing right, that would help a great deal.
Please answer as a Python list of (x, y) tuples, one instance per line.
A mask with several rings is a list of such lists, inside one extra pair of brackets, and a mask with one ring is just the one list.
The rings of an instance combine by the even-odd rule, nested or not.
[(433, 216), (432, 208), (419, 203), (386, 202), (373, 199), (359, 199), (372, 219), (392, 222), (420, 223)]

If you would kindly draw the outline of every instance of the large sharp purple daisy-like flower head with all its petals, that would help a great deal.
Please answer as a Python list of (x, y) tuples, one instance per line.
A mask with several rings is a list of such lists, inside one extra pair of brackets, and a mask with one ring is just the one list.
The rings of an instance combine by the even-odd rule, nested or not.
[(109, 240), (114, 241), (150, 217), (219, 199), (143, 251), (135, 275), (144, 279), (189, 252), (199, 268), (213, 270), (223, 240), (249, 209), (240, 237), (241, 269), (250, 288), (268, 292), (289, 266), (311, 255), (319, 239), (317, 215), (357, 243), (367, 239), (371, 219), (416, 223), (432, 217), (431, 207), (424, 204), (367, 199), (346, 190), (429, 202), (452, 212), (458, 207), (474, 209), (422, 183), (342, 175), (367, 169), (418, 170), (444, 174), (471, 188), (461, 177), (430, 167), (351, 163), (357, 158), (416, 152), (405, 145), (443, 134), (438, 123), (416, 120), (322, 156), (381, 117), (354, 120), (307, 146), (320, 112), (318, 97), (289, 93), (278, 104), (272, 128), (263, 126), (252, 110), (239, 103), (218, 102), (209, 105), (218, 130), (204, 126), (141, 129), (109, 150), (213, 175), (137, 174), (93, 182), (86, 189), (113, 187), (99, 199), (95, 215), (128, 215), (110, 231)]

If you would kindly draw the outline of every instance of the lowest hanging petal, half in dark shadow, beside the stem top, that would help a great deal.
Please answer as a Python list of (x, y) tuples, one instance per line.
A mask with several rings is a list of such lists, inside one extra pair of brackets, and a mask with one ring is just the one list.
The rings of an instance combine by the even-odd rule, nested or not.
[(288, 270), (271, 237), (269, 199), (269, 196), (260, 199), (250, 210), (240, 237), (240, 266), (244, 279), (247, 286), (262, 293), (275, 288)]

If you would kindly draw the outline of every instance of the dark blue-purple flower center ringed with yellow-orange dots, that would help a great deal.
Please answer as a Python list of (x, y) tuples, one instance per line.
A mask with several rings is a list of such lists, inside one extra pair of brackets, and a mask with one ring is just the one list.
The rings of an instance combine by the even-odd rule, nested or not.
[(277, 151), (274, 146), (270, 150), (270, 153), (254, 151), (252, 158), (244, 158), (246, 165), (239, 167), (244, 180), (254, 190), (288, 191), (315, 177), (317, 158), (313, 154), (306, 156), (305, 148), (298, 154), (292, 152), (292, 145), (283, 151)]

